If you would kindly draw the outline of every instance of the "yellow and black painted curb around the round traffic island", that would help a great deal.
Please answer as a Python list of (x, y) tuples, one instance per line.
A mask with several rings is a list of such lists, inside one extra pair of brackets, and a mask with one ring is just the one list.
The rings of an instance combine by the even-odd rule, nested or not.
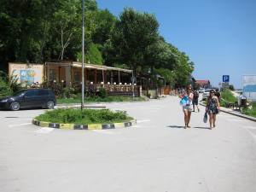
[(127, 128), (137, 124), (137, 120), (125, 121), (122, 123), (113, 124), (90, 124), (90, 125), (79, 125), (79, 124), (60, 124), (60, 123), (50, 123), (39, 121), (37, 119), (32, 119), (32, 124), (42, 127), (63, 129), (63, 130), (108, 130), (108, 129), (118, 129)]

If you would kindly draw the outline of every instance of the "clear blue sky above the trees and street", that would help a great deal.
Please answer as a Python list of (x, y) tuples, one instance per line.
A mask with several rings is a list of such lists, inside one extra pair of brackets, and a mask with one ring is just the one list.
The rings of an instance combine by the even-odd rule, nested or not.
[(256, 74), (256, 0), (96, 0), (118, 16), (125, 7), (154, 14), (160, 35), (195, 62), (195, 79), (217, 86), (222, 75), (241, 88)]

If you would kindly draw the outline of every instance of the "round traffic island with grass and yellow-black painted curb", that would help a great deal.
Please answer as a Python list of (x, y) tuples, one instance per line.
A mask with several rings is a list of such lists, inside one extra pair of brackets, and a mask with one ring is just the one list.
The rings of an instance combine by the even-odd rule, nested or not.
[(108, 130), (136, 125), (124, 111), (109, 109), (55, 109), (32, 119), (33, 125), (66, 130)]

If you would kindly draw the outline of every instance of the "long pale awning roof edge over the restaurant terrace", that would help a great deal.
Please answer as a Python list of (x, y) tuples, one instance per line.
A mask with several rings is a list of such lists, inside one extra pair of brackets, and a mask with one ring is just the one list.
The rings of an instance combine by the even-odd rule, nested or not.
[[(70, 67), (82, 67), (81, 62), (77, 61), (60, 61), (60, 62), (47, 62), (47, 65), (50, 66), (70, 66)], [(90, 63), (84, 63), (84, 68), (91, 68), (91, 69), (97, 69), (97, 70), (105, 70), (105, 71), (119, 71), (119, 72), (125, 72), (125, 73), (132, 73), (132, 70), (130, 69), (124, 69), (124, 68), (118, 68), (118, 67), (108, 67), (108, 66), (101, 66), (101, 65), (95, 65)]]

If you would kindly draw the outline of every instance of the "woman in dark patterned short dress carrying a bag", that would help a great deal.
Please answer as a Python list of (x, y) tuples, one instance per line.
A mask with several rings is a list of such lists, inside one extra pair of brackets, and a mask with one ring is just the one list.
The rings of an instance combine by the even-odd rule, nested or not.
[(219, 102), (218, 97), (215, 96), (215, 91), (210, 90), (210, 96), (207, 99), (207, 113), (209, 115), (209, 122), (210, 122), (210, 130), (212, 130), (212, 125), (215, 127), (216, 122), (216, 114), (218, 114), (219, 110)]

